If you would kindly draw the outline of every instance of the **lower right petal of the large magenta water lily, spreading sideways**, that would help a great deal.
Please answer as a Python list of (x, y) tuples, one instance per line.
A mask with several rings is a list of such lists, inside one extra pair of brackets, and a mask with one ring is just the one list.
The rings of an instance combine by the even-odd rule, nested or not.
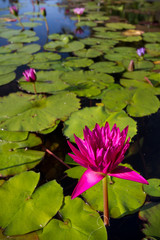
[(109, 176), (122, 178), (134, 182), (140, 182), (143, 184), (149, 184), (145, 178), (143, 178), (140, 174), (133, 171), (130, 168), (118, 166), (111, 173), (108, 173)]

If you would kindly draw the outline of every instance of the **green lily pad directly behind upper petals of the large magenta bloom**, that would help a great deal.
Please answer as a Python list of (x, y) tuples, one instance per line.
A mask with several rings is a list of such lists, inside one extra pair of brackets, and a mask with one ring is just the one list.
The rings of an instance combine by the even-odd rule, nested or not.
[(117, 123), (121, 131), (129, 125), (128, 136), (130, 137), (133, 137), (137, 132), (136, 122), (129, 118), (124, 111), (109, 114), (104, 110), (104, 107), (100, 106), (86, 107), (78, 112), (74, 112), (71, 117), (65, 121), (63, 132), (70, 138), (70, 141), (74, 142), (74, 134), (83, 139), (83, 129), (85, 126), (93, 129), (96, 123), (102, 126), (106, 122), (109, 122), (110, 127)]

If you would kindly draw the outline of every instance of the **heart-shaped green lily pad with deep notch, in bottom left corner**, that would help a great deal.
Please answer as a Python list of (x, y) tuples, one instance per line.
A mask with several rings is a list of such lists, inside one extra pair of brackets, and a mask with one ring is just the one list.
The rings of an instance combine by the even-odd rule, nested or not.
[(38, 180), (38, 173), (24, 172), (0, 187), (0, 226), (5, 228), (5, 235), (41, 229), (61, 207), (63, 192), (60, 185), (53, 180), (34, 191)]

